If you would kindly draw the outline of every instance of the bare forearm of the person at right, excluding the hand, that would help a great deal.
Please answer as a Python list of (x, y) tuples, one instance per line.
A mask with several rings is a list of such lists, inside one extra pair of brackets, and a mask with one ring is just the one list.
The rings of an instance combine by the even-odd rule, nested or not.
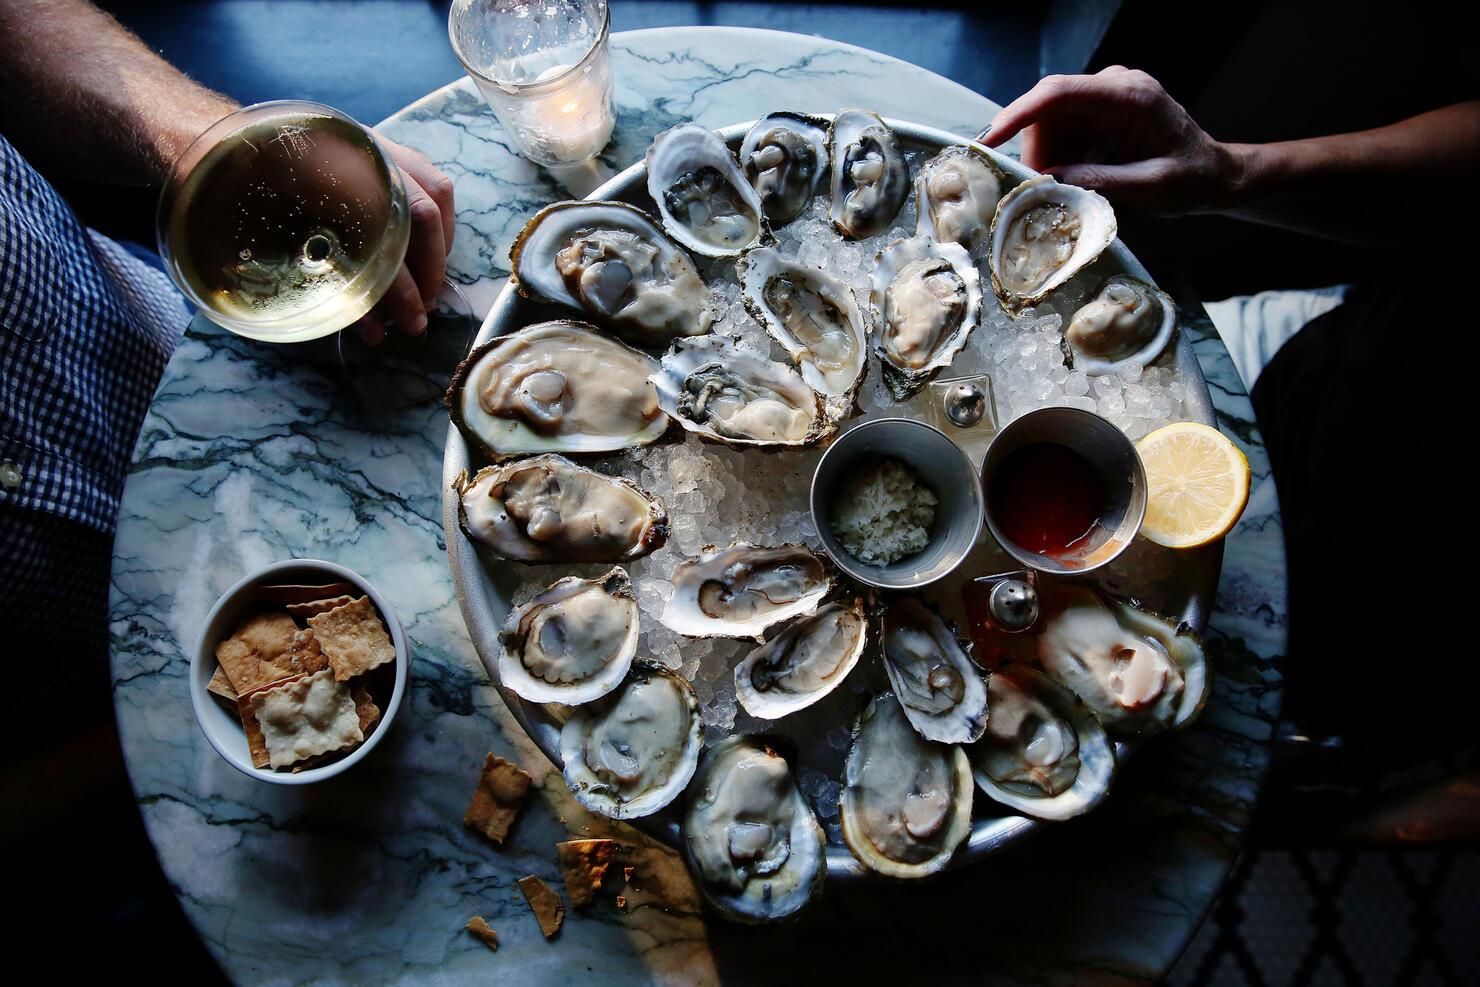
[[(1360, 133), (1227, 146), (1240, 175), (1221, 212), (1243, 219), (1412, 249), (1407, 234), (1444, 244), (1480, 215), (1453, 194), (1480, 172), (1480, 101)], [(1449, 181), (1461, 185), (1439, 185)]]

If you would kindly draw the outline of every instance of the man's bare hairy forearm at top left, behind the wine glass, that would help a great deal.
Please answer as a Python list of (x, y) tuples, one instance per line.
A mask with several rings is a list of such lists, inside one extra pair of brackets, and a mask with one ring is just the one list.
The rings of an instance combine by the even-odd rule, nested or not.
[(0, 130), (56, 175), (158, 183), (235, 104), (81, 0), (0, 0)]

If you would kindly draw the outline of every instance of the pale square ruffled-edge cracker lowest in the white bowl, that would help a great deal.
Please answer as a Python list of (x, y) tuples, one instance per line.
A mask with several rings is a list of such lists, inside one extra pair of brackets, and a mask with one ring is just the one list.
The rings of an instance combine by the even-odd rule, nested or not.
[(329, 669), (260, 690), (252, 707), (274, 768), (364, 740), (349, 687)]

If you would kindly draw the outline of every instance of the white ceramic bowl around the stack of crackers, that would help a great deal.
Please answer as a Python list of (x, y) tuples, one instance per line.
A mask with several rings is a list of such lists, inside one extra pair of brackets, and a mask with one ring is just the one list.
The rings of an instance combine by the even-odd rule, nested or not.
[[(380, 613), (380, 619), (385, 621), (386, 630), (391, 635), (391, 644), (395, 645), (395, 669), (391, 698), (380, 709), (380, 719), (376, 722), (374, 730), (370, 731), (370, 735), (366, 737), (364, 743), (339, 761), (332, 761), (317, 768), (305, 768), (296, 774), (292, 771), (255, 768), (252, 765), (252, 752), (247, 749), (247, 735), (241, 730), (241, 721), (206, 690), (206, 685), (210, 682), (210, 676), (216, 672), (216, 645), (231, 635), (232, 629), (235, 629), (240, 623), (243, 614), (256, 604), (258, 586), (320, 586), (340, 582), (358, 586), (360, 590), (370, 598), (370, 602), (374, 604), (374, 608)], [(395, 713), (401, 707), (401, 700), (406, 695), (406, 679), (410, 664), (411, 658), (406, 648), (406, 630), (401, 627), (401, 621), (391, 608), (389, 601), (386, 601), (379, 589), (370, 585), (370, 580), (345, 568), (343, 565), (336, 565), (334, 562), (321, 562), (318, 559), (289, 559), (286, 562), (274, 562), (256, 570), (255, 573), (249, 573), (237, 582), (235, 586), (222, 593), (221, 599), (216, 601), (216, 605), (210, 608), (210, 613), (206, 616), (206, 623), (201, 627), (200, 638), (195, 642), (195, 651), (191, 656), (189, 700), (191, 706), (195, 709), (195, 722), (200, 724), (200, 730), (206, 734), (206, 740), (210, 741), (210, 746), (216, 749), (216, 753), (225, 758), (231, 767), (246, 775), (258, 778), (259, 781), (269, 781), (272, 784), (312, 784), (348, 771), (366, 755), (369, 755), (377, 743), (380, 743), (380, 737), (391, 730), (391, 721), (395, 719)]]

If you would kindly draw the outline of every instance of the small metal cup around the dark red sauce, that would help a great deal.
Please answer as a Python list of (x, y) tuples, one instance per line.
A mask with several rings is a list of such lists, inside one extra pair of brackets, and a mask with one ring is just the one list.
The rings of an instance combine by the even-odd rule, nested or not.
[[(1008, 539), (1000, 518), (993, 516), (992, 481), (998, 468), (1011, 453), (1037, 442), (1057, 442), (1083, 456), (1106, 491), (1107, 506), (1100, 524), (1073, 555), (1049, 558), (1032, 552)], [(981, 463), (981, 490), (992, 537), (1008, 555), (1040, 573), (1072, 576), (1100, 568), (1131, 545), (1146, 516), (1146, 469), (1135, 445), (1106, 419), (1079, 408), (1029, 411), (998, 432)]]

